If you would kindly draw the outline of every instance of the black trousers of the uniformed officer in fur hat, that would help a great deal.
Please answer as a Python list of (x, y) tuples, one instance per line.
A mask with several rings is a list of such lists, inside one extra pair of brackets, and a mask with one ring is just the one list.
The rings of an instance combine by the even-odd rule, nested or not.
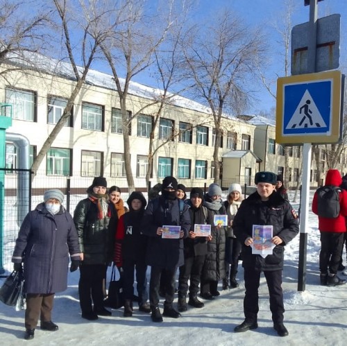
[[(248, 322), (257, 321), (259, 311), (260, 274), (262, 272), (253, 268), (244, 268), (244, 286), (246, 293), (244, 296), (244, 316)], [(282, 270), (264, 271), (266, 284), (269, 288), (270, 310), (273, 323), (282, 323), (285, 306), (283, 304), (282, 292)]]

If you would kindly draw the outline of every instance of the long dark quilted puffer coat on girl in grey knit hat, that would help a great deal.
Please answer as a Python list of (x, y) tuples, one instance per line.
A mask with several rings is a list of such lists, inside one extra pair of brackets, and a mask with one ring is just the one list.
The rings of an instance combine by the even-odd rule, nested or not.
[[(226, 208), (219, 200), (212, 201), (208, 194), (205, 195), (205, 207), (212, 214), (212, 224), (214, 215), (226, 215)], [(226, 258), (226, 227), (211, 227), (212, 240), (208, 242), (208, 254), (203, 264), (201, 274), (202, 281), (219, 281), (226, 277), (225, 258)]]

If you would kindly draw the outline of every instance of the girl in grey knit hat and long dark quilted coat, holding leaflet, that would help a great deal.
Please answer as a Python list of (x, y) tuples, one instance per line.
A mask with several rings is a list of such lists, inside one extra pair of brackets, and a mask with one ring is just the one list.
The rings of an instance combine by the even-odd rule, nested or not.
[[(226, 208), (221, 201), (221, 187), (218, 184), (210, 184), (203, 205), (212, 211), (213, 217), (226, 215)], [(218, 282), (226, 277), (226, 227), (213, 226), (211, 235), (212, 240), (208, 242), (208, 254), (201, 274), (201, 297), (207, 300), (219, 295)]]

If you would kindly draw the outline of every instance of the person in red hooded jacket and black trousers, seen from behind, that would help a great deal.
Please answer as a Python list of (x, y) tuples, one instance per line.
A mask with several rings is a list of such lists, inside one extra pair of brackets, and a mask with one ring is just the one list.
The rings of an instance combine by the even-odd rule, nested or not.
[[(330, 169), (325, 178), (325, 186), (339, 187), (342, 179), (337, 169)], [(322, 286), (339, 286), (346, 283), (337, 276), (337, 269), (341, 259), (341, 249), (344, 245), (347, 216), (347, 191), (339, 192), (340, 212), (337, 218), (323, 218), (318, 216), (318, 228), (321, 232), (321, 252), (319, 254), (319, 270), (321, 271)], [(314, 193), (312, 211), (318, 215), (318, 196)], [(329, 269), (329, 272), (328, 272)]]

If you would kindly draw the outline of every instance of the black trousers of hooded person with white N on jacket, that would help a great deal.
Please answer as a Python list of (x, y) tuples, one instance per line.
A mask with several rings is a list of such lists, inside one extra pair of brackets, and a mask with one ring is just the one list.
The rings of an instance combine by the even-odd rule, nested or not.
[(136, 271), (137, 293), (139, 295), (139, 304), (146, 302), (147, 291), (147, 266), (144, 263), (138, 263), (130, 259), (123, 260), (123, 293), (126, 300), (133, 300), (134, 295), (134, 272)]

